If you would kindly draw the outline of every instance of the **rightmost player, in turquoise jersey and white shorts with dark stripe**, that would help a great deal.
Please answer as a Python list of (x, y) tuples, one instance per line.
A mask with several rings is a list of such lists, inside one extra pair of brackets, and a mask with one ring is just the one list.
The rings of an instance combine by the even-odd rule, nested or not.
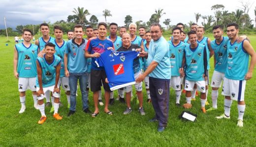
[[(237, 100), (238, 121), (237, 125), (243, 127), (245, 112), (244, 93), (246, 80), (253, 76), (256, 63), (256, 52), (248, 40), (237, 43), (239, 28), (236, 23), (227, 25), (226, 33), (229, 38), (227, 43), (227, 66), (223, 84), (224, 114), (217, 119), (230, 119), (232, 100)], [(249, 55), (251, 63), (248, 70)]]

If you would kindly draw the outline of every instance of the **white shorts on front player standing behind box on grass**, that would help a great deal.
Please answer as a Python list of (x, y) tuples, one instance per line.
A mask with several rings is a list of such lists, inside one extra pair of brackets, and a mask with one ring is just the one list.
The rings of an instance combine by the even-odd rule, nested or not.
[(194, 84), (196, 84), (196, 89), (197, 91), (201, 92), (201, 93), (205, 93), (205, 81), (189, 81), (187, 79), (185, 79), (185, 85), (184, 85), (184, 89), (186, 91), (193, 91), (194, 88)]

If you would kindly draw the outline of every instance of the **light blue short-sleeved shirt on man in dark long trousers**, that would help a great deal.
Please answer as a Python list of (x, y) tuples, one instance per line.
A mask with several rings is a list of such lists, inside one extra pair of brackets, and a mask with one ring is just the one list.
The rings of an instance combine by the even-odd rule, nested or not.
[(169, 45), (167, 41), (161, 36), (159, 40), (151, 40), (149, 45), (148, 66), (155, 61), (158, 66), (152, 71), (149, 76), (159, 79), (171, 78), (171, 64), (170, 64)]

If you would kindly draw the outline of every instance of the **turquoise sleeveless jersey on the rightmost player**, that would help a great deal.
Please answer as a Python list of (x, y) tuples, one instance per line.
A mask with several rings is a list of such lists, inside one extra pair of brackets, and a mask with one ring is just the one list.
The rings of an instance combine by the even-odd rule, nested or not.
[[(245, 40), (244, 40), (245, 41)], [(248, 72), (249, 54), (243, 48), (244, 41), (227, 43), (227, 68), (225, 77), (232, 80), (244, 80)]]

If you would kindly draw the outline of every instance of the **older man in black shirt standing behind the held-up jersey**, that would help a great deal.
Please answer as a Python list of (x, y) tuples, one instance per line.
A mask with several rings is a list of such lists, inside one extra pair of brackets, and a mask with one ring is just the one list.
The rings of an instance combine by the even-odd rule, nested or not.
[[(131, 44), (130, 34), (124, 33), (122, 38), (122, 46), (119, 49), (117, 49), (117, 51), (131, 51), (131, 50), (140, 51), (140, 49), (141, 48), (139, 46)], [(133, 60), (133, 73), (134, 73), (134, 78), (137, 78), (141, 74), (139, 57)], [(142, 82), (136, 83), (134, 84), (134, 86), (135, 86), (138, 100), (139, 100), (139, 112), (141, 115), (145, 115), (144, 108), (142, 107), (143, 105)], [(124, 114), (129, 114), (131, 112), (131, 106), (130, 106), (131, 89), (132, 89), (132, 85), (125, 87), (127, 109), (124, 111)]]

